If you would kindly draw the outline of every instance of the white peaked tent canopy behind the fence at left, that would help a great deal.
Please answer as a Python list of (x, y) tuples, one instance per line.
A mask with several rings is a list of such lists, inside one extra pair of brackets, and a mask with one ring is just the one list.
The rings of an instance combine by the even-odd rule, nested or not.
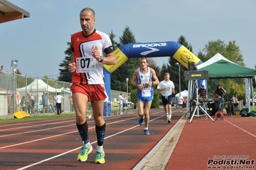
[(18, 92), (26, 91), (48, 91), (48, 92), (61, 92), (61, 89), (56, 89), (46, 84), (42, 79), (35, 79), (28, 86), (17, 89)]

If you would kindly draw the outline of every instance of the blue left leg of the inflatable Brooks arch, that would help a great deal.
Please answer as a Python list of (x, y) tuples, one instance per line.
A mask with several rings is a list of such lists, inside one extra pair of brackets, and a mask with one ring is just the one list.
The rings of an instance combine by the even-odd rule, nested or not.
[(107, 92), (108, 98), (106, 98), (107, 102), (104, 102), (104, 111), (103, 116), (110, 116), (111, 109), (110, 109), (110, 101), (111, 101), (111, 82), (110, 82), (110, 72), (103, 67), (103, 74), (104, 74), (104, 81), (105, 81), (105, 90)]

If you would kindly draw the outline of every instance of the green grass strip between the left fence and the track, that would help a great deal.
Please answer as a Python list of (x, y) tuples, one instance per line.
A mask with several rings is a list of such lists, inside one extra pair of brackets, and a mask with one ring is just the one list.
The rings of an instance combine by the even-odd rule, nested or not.
[(33, 115), (32, 118), (22, 118), (22, 119), (17, 119), (17, 118), (8, 118), (8, 119), (0, 119), (0, 123), (10, 123), (10, 122), (16, 122), (16, 121), (30, 121), (30, 120), (46, 120), (46, 119), (54, 119), (54, 118), (60, 118), (60, 117), (74, 117), (76, 114), (73, 113), (67, 113), (67, 114), (53, 114), (53, 115)]

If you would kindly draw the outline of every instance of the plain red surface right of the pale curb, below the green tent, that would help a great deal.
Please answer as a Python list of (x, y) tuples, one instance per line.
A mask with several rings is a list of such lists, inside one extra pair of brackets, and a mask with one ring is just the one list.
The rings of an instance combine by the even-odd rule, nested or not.
[[(248, 161), (250, 169), (255, 169), (255, 145), (256, 118), (224, 116), (224, 120), (213, 122), (201, 117), (194, 119), (192, 123), (187, 120), (166, 169), (201, 170), (210, 169), (210, 166), (243, 169), (246, 166), (239, 165), (241, 159)], [(216, 161), (216, 165), (208, 165), (210, 160)], [(218, 164), (220, 160), (237, 160), (237, 164)]]

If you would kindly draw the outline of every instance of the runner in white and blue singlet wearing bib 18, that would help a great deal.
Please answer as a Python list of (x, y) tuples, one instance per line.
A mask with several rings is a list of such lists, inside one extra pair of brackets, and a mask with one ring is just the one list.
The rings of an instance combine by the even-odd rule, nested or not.
[[(145, 120), (144, 134), (149, 135), (149, 110), (154, 96), (153, 86), (157, 86), (159, 84), (159, 81), (155, 70), (148, 67), (147, 58), (142, 57), (140, 59), (140, 65), (140, 68), (137, 68), (133, 73), (131, 84), (132, 86), (137, 88), (137, 105), (138, 114), (140, 117), (139, 125), (142, 125), (143, 121)], [(135, 82), (136, 80), (137, 82)]]

